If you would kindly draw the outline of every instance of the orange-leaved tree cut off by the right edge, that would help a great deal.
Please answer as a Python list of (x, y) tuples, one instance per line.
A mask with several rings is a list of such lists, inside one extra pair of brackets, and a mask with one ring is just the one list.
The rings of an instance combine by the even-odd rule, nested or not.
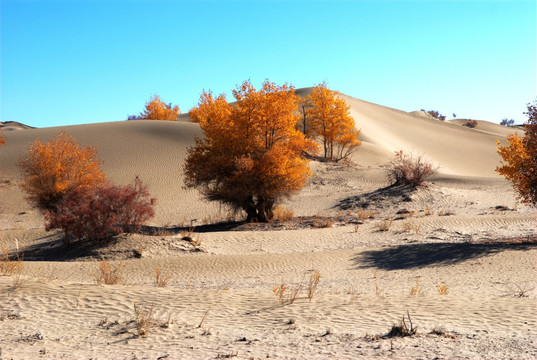
[(522, 202), (537, 206), (537, 100), (528, 104), (528, 122), (524, 124), (524, 137), (507, 136), (508, 146), (498, 143), (502, 166), (496, 171), (513, 183)]

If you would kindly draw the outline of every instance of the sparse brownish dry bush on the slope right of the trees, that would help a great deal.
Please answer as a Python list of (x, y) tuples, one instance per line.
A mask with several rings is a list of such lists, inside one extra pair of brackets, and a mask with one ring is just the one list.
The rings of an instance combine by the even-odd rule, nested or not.
[(384, 166), (388, 180), (395, 185), (420, 186), (425, 179), (437, 171), (432, 164), (426, 162), (423, 156), (395, 152), (395, 159)]

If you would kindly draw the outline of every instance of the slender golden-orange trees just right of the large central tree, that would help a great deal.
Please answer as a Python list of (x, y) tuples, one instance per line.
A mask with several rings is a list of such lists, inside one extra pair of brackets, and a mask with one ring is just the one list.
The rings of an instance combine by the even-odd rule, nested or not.
[(311, 130), (323, 143), (324, 158), (333, 161), (347, 158), (360, 145), (349, 106), (337, 94), (326, 83), (319, 84), (308, 95), (311, 107), (306, 109)]

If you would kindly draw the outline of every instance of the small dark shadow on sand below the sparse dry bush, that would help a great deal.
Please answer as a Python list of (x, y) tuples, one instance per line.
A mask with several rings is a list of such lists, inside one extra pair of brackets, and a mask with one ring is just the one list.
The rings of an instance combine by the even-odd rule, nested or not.
[(355, 208), (367, 209), (372, 204), (382, 208), (384, 202), (394, 204), (398, 202), (410, 202), (410, 195), (416, 188), (408, 185), (389, 185), (362, 195), (350, 196), (340, 200), (334, 207), (341, 210)]

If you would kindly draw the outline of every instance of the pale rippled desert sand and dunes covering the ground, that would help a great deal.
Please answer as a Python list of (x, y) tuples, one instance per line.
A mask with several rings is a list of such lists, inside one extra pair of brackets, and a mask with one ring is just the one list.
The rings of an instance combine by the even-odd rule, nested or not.
[[(225, 208), (183, 188), (200, 135), (185, 116), (4, 127), (0, 246), (24, 258), (0, 276), (0, 357), (537, 358), (536, 213), (495, 172), (495, 141), (514, 130), (341, 96), (362, 145), (350, 162), (312, 161), (307, 186), (283, 204), (294, 219), (270, 224), (225, 223)], [(61, 130), (95, 145), (114, 182), (149, 184), (158, 203), (144, 231), (79, 250), (44, 230), (16, 164)], [(382, 166), (400, 149), (438, 166), (427, 186), (389, 187)], [(119, 284), (97, 284), (101, 259), (122, 264)], [(292, 304), (273, 292), (282, 283), (300, 289)], [(141, 334), (144, 314), (154, 321)], [(416, 334), (386, 336), (408, 314)]]

